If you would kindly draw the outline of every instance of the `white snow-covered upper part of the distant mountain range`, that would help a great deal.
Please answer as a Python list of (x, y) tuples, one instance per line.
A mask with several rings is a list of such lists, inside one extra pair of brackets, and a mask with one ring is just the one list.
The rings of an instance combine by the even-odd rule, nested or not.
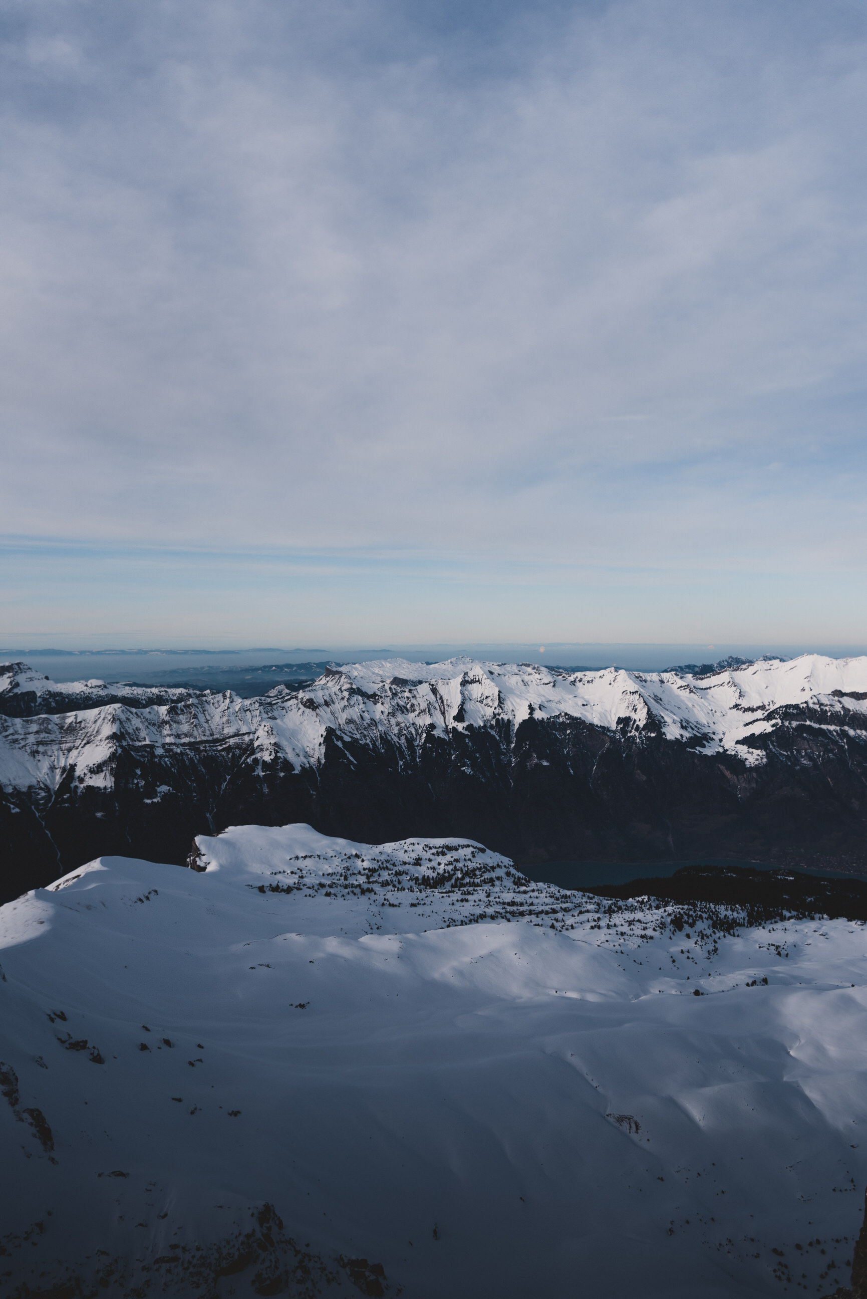
[[(19, 674), (16, 688), (30, 688), (35, 675)], [(61, 688), (44, 681), (43, 686)], [(96, 698), (108, 687), (83, 683), (82, 688), (92, 688)], [(395, 659), (330, 669), (300, 691), (280, 686), (254, 699), (231, 691), (160, 690), (171, 698), (151, 707), (141, 705), (144, 688), (110, 687), (116, 694), (127, 688), (135, 694), (135, 707), (116, 700), (67, 713), (0, 716), (0, 786), (49, 792), (75, 768), (79, 786), (109, 790), (121, 748), (158, 755), (177, 746), (230, 740), (248, 742), (261, 770), (275, 763), (315, 769), (328, 734), (378, 752), (396, 750), (410, 760), (431, 735), (505, 729), (514, 739), (531, 717), (578, 718), (639, 740), (661, 735), (702, 755), (737, 755), (746, 765), (766, 763), (763, 748), (754, 746), (792, 717), (803, 716), (828, 730), (867, 727), (867, 657), (819, 655), (727, 668), (701, 678)], [(73, 686), (69, 691), (74, 698)]]

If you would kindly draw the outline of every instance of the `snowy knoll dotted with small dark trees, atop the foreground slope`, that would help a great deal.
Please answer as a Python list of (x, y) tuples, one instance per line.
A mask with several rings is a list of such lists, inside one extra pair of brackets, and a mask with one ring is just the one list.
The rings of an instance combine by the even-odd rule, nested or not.
[[(649, 951), (655, 939), (678, 940), (685, 943), (685, 959), (697, 965), (687, 978), (697, 985), (689, 990), (696, 995), (732, 986), (714, 965), (722, 938), (736, 938), (745, 929), (788, 934), (789, 925), (829, 924), (822, 912), (796, 908), (620, 899), (558, 889), (530, 879), (507, 857), (471, 839), (405, 839), (371, 847), (327, 838), (308, 825), (230, 826), (217, 837), (199, 835), (189, 865), (243, 882), (267, 899), (291, 898), (308, 929), (314, 924), (323, 933), (427, 933), (505, 921), (592, 940), (619, 955)], [(65, 887), (69, 878), (51, 889)], [(762, 911), (771, 914), (767, 925), (757, 926)], [(845, 924), (863, 927), (864, 922)], [(788, 959), (787, 942), (771, 946)], [(683, 994), (681, 986), (670, 983), (667, 968), (665, 973), (657, 991)]]

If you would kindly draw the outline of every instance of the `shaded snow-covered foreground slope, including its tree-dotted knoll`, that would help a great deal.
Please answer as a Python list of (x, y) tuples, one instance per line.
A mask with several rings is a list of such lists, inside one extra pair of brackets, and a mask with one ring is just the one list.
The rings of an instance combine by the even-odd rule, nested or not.
[(245, 826), (193, 861), (0, 908), (3, 1294), (848, 1280), (861, 925), (567, 894), (467, 840)]

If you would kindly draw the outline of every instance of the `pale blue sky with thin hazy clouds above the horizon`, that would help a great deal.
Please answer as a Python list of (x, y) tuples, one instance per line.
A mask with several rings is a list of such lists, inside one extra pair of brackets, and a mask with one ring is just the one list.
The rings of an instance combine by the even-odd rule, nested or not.
[(862, 0), (0, 0), (0, 643), (867, 642)]

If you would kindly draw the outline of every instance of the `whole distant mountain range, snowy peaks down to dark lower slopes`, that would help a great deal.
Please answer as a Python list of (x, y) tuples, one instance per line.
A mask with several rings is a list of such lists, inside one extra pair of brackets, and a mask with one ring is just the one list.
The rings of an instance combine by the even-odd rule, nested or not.
[(99, 853), (180, 863), (199, 833), (295, 820), (470, 835), (523, 864), (867, 865), (863, 657), (700, 675), (389, 660), (256, 699), (0, 672), (4, 896)]

